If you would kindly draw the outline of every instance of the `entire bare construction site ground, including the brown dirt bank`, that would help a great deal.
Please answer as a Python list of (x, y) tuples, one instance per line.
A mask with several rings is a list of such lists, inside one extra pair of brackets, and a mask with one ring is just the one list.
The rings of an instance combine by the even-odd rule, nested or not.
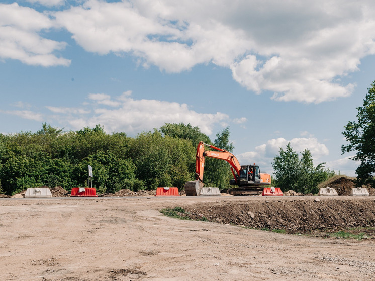
[(374, 227), (374, 196), (2, 198), (0, 279), (375, 280)]

